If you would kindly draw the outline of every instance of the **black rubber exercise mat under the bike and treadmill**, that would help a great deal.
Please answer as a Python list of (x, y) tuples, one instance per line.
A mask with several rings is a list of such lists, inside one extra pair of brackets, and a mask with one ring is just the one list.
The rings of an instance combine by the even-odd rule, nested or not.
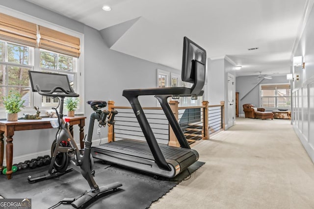
[[(123, 186), (116, 191), (107, 192), (103, 197), (91, 203), (88, 209), (146, 209), (170, 189), (187, 179), (191, 173), (204, 163), (196, 162), (188, 170), (174, 179), (154, 178), (145, 173), (96, 161), (95, 181), (99, 186), (120, 182)], [(0, 195), (4, 198), (30, 198), (32, 209), (48, 209), (64, 198), (74, 198), (89, 190), (89, 186), (80, 173), (71, 171), (55, 179), (29, 184), (27, 176), (45, 172), (47, 166), (24, 169), (13, 173), (11, 180), (0, 175)], [(180, 198), (180, 197), (178, 197)], [(57, 209), (70, 209), (71, 205), (61, 204)]]

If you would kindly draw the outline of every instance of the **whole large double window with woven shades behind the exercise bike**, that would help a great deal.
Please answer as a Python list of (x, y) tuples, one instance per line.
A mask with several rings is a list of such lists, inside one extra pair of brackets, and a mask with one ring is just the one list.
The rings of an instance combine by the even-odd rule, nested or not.
[[(0, 118), (5, 117), (2, 96), (10, 91), (22, 94), (24, 113), (34, 106), (41, 110), (57, 106), (57, 98), (31, 92), (28, 70), (67, 74), (82, 104), (84, 82), (80, 75), (84, 73), (84, 61), (79, 56), (83, 34), (23, 13), (11, 11), (13, 17), (4, 14), (5, 9), (0, 8), (0, 12)], [(45, 114), (45, 110), (41, 112)], [(77, 113), (84, 113), (83, 105)]]

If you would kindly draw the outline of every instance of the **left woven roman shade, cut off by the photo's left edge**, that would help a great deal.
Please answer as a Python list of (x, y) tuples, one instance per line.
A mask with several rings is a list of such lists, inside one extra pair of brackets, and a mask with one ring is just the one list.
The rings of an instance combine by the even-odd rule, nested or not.
[(36, 46), (36, 24), (0, 13), (0, 39), (22, 44)]

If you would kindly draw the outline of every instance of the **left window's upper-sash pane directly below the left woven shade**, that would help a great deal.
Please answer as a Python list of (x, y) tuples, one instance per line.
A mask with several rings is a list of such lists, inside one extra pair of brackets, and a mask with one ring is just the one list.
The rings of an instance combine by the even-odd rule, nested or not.
[(8, 44), (8, 62), (28, 65), (29, 49), (27, 46)]

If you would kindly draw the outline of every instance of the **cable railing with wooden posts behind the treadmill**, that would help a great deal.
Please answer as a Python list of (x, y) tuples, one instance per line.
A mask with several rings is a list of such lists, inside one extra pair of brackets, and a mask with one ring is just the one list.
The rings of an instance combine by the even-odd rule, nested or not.
[[(114, 102), (112, 102), (114, 104)], [(135, 139), (145, 141), (144, 134), (131, 107), (110, 105), (108, 109), (115, 109), (115, 124), (108, 129), (108, 141), (120, 139)], [(170, 103), (169, 103), (170, 104)], [(224, 129), (224, 103), (220, 105), (178, 107), (175, 105), (173, 113), (178, 118), (179, 125), (186, 140), (193, 143), (200, 139), (209, 139), (209, 135)], [(169, 122), (161, 108), (143, 108), (147, 120), (153, 130), (158, 143), (179, 146)]]

